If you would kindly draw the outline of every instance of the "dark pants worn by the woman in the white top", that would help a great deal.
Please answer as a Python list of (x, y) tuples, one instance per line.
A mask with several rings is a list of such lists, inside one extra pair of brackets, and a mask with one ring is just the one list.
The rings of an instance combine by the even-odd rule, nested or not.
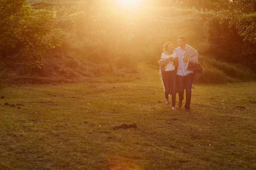
[[(176, 100), (176, 70), (172, 71), (163, 71), (162, 72), (162, 79), (164, 83), (164, 89), (165, 89), (165, 98), (169, 98), (169, 93), (172, 91), (172, 106), (175, 106), (175, 100)], [(172, 88), (172, 89), (171, 89)]]

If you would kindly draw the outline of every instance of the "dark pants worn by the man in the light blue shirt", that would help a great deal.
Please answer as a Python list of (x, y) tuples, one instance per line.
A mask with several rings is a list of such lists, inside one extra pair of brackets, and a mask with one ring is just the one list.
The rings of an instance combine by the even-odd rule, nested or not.
[(192, 79), (193, 73), (188, 74), (187, 76), (179, 76), (177, 75), (177, 80), (179, 84), (179, 100), (184, 99), (184, 89), (186, 89), (186, 104), (185, 109), (190, 109), (190, 101), (191, 101), (191, 88), (192, 88)]

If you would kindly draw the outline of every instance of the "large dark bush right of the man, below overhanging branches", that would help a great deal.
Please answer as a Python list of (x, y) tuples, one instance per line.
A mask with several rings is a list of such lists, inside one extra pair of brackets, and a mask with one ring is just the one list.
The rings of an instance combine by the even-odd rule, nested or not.
[(219, 24), (220, 17), (208, 19), (205, 25), (207, 41), (200, 49), (202, 54), (230, 63), (242, 63), (255, 71), (256, 48), (253, 43), (244, 42), (236, 33), (236, 28), (228, 28), (228, 23)]

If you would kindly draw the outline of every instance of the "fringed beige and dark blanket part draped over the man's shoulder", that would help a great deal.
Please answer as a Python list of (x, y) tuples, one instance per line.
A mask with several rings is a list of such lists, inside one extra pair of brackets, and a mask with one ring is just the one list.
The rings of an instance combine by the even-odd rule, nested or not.
[(185, 70), (194, 70), (193, 81), (195, 82), (200, 76), (204, 74), (204, 71), (198, 61), (198, 52), (193, 48), (187, 45), (187, 50), (183, 53), (182, 58), (188, 58), (186, 63)]

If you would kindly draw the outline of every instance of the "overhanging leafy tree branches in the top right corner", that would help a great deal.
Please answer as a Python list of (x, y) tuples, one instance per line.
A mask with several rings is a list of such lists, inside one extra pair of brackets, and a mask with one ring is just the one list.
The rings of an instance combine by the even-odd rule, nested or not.
[[(255, 0), (223, 0), (227, 10), (220, 11), (220, 24), (228, 20), (229, 28), (235, 26), (237, 33), (256, 44), (256, 13)], [(215, 3), (217, 6), (220, 5)]]

